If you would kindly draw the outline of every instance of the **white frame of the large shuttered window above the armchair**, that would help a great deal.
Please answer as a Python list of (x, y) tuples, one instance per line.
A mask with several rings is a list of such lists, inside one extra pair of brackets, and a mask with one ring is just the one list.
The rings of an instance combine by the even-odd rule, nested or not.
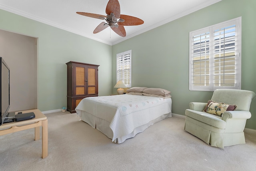
[[(222, 85), (214, 85), (214, 48), (216, 47), (216, 45), (214, 46), (214, 30), (218, 30), (218, 29), (222, 29), (222, 28), (226, 28), (228, 26), (232, 26), (235, 25), (235, 47), (234, 47), (234, 85), (233, 86), (222, 86)], [(203, 73), (201, 75), (201, 71), (202, 71), (202, 60), (201, 60), (201, 55), (200, 55), (200, 74), (199, 75), (193, 75), (193, 66), (194, 66), (194, 62), (193, 62), (193, 56), (194, 54), (196, 54), (196, 52), (193, 50), (193, 42), (195, 39), (194, 36), (198, 36), (198, 35), (203, 35), (204, 33), (208, 33), (209, 35), (205, 36), (204, 38), (208, 39), (208, 42), (205, 41), (206, 43), (204, 44), (204, 47), (201, 48), (200, 46), (200, 54), (201, 54), (201, 50), (204, 49), (206, 52), (205, 54), (207, 54), (208, 57), (205, 57), (206, 55), (204, 55), (205, 58), (207, 58), (208, 60), (208, 66), (206, 66), (207, 70), (205, 69), (204, 71), (206, 71), (205, 73)], [(201, 41), (200, 41), (201, 42)], [(206, 50), (207, 47), (207, 50)], [(218, 47), (218, 46), (217, 46)], [(220, 47), (220, 45), (219, 45)], [(224, 49), (226, 46), (224, 46)], [(209, 49), (209, 50), (208, 50)], [(219, 49), (220, 50), (220, 49)], [(221, 22), (219, 24), (215, 24), (206, 28), (202, 28), (199, 30), (195, 30), (192, 32), (189, 32), (189, 90), (195, 90), (195, 91), (214, 91), (215, 89), (241, 89), (241, 50), (242, 50), (242, 17), (238, 17), (238, 18), (234, 18), (232, 20), (228, 20), (225, 22)], [(197, 56), (198, 57), (198, 56)], [(204, 59), (205, 59), (204, 58)], [(203, 58), (202, 58), (203, 59)], [(196, 61), (196, 60), (195, 60)], [(215, 66), (216, 68), (216, 66)], [(208, 72), (209, 71), (209, 72)], [(224, 71), (224, 70), (223, 70)], [(225, 71), (224, 71), (225, 72)], [(209, 74), (208, 74), (209, 73)], [(215, 71), (216, 73), (216, 71)], [(196, 81), (194, 81), (195, 79), (193, 79), (196, 76), (201, 76), (205, 78), (205, 80), (207, 80), (207, 77), (209, 78), (209, 84), (204, 84), (201, 82), (201, 85), (196, 85)], [(224, 75), (225, 77), (225, 75)], [(225, 80), (225, 79), (223, 79)], [(227, 79), (228, 80), (228, 79)], [(204, 84), (204, 85), (202, 85)]]

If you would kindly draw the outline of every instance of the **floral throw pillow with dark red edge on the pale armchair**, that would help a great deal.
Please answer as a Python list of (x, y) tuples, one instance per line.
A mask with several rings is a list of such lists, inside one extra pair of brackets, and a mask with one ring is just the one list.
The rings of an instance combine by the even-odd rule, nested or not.
[(225, 103), (209, 100), (203, 111), (214, 115), (222, 116), (222, 113), (224, 113), (225, 111), (236, 110), (236, 107), (236, 105), (228, 105)]

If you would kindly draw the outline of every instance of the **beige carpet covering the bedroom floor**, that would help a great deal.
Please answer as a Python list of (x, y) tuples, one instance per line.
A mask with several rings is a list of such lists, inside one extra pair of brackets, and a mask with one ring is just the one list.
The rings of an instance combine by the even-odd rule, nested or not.
[(75, 113), (48, 117), (48, 157), (34, 129), (0, 136), (1, 171), (253, 171), (256, 134), (246, 144), (211, 147), (184, 131), (184, 119), (167, 118), (124, 143), (112, 143)]

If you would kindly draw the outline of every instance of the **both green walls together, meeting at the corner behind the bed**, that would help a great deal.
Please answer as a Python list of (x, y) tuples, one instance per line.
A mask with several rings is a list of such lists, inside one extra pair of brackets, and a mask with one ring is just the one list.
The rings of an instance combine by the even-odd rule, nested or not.
[[(41, 111), (66, 106), (66, 62), (100, 65), (99, 95), (109, 95), (116, 92), (116, 54), (132, 50), (132, 86), (172, 91), (172, 112), (184, 115), (191, 101), (206, 102), (212, 96), (212, 91), (188, 90), (188, 36), (193, 30), (242, 16), (242, 89), (256, 92), (255, 6), (255, 0), (222, 0), (114, 46), (4, 10), (0, 10), (0, 29), (38, 38)], [(256, 129), (256, 99), (250, 111), (246, 127)]]

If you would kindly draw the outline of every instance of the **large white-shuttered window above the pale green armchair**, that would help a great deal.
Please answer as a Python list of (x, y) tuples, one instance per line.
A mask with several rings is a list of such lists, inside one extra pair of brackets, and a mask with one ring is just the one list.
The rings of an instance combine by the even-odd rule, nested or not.
[(241, 89), (241, 17), (190, 32), (189, 89)]

